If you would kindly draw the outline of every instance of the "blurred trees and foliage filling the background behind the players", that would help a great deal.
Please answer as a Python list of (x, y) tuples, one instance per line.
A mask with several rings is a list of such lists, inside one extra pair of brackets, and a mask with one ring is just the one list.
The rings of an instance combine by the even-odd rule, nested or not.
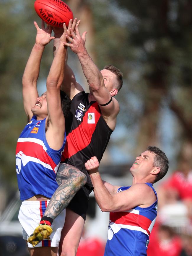
[[(136, 133), (133, 147), (144, 148), (149, 142), (161, 144), (158, 129), (164, 107), (178, 120), (179, 128), (175, 125), (173, 132), (179, 132), (180, 145), (184, 141), (192, 144), (191, 0), (66, 1), (69, 6), (70, 2), (76, 4), (77, 17), (78, 6), (79, 10), (89, 7), (94, 32), (92, 51), (99, 68), (111, 63), (124, 74), (123, 88), (117, 95), (121, 107), (118, 123)], [(33, 4), (0, 1), (0, 175), (2, 181), (9, 181), (10, 188), (16, 186), (17, 138), (27, 121), (22, 106), (22, 74), (35, 42), (33, 21), (40, 24)], [(40, 81), (48, 74), (51, 48), (51, 44), (45, 48)], [(119, 147), (127, 142), (125, 137), (127, 134), (116, 142)]]

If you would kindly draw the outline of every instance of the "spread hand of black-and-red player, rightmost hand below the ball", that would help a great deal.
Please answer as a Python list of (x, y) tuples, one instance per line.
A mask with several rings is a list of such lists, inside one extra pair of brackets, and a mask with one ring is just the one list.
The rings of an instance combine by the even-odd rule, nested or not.
[(78, 26), (75, 26), (75, 32), (70, 28), (71, 37), (67, 35), (66, 39), (69, 43), (64, 42), (64, 45), (69, 46), (74, 53), (83, 53), (85, 51), (85, 36), (87, 31), (83, 32), (82, 37), (80, 35)]

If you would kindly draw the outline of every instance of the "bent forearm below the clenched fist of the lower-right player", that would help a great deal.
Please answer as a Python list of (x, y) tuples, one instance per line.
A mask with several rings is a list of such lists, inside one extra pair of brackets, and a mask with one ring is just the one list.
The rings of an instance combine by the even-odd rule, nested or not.
[(112, 208), (112, 195), (103, 184), (99, 172), (90, 174), (90, 178), (94, 187), (95, 200), (97, 204), (101, 211), (109, 212)]

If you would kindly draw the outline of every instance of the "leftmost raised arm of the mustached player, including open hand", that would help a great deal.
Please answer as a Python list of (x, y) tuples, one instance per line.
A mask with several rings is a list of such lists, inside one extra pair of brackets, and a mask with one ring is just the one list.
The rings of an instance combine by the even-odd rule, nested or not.
[(40, 62), (43, 55), (45, 45), (48, 44), (54, 37), (51, 36), (52, 28), (46, 26), (42, 21), (42, 28), (40, 29), (37, 22), (34, 22), (37, 29), (37, 35), (35, 39), (35, 45), (32, 48), (30, 57), (27, 61), (25, 71), (22, 78), (23, 84), (23, 105), (25, 113), (28, 118), (32, 118), (31, 108), (35, 105), (38, 97), (37, 80), (40, 70)]

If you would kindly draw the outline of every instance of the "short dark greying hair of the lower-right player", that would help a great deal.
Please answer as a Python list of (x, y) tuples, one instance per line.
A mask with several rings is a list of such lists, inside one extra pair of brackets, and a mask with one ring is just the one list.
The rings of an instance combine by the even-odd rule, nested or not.
[(154, 183), (157, 182), (158, 180), (162, 179), (165, 174), (168, 171), (169, 168), (169, 161), (167, 159), (167, 156), (163, 151), (161, 151), (159, 148), (155, 146), (149, 146), (147, 147), (147, 150), (150, 151), (151, 153), (155, 154), (155, 159), (153, 162), (153, 166), (159, 167), (160, 172), (157, 174)]

